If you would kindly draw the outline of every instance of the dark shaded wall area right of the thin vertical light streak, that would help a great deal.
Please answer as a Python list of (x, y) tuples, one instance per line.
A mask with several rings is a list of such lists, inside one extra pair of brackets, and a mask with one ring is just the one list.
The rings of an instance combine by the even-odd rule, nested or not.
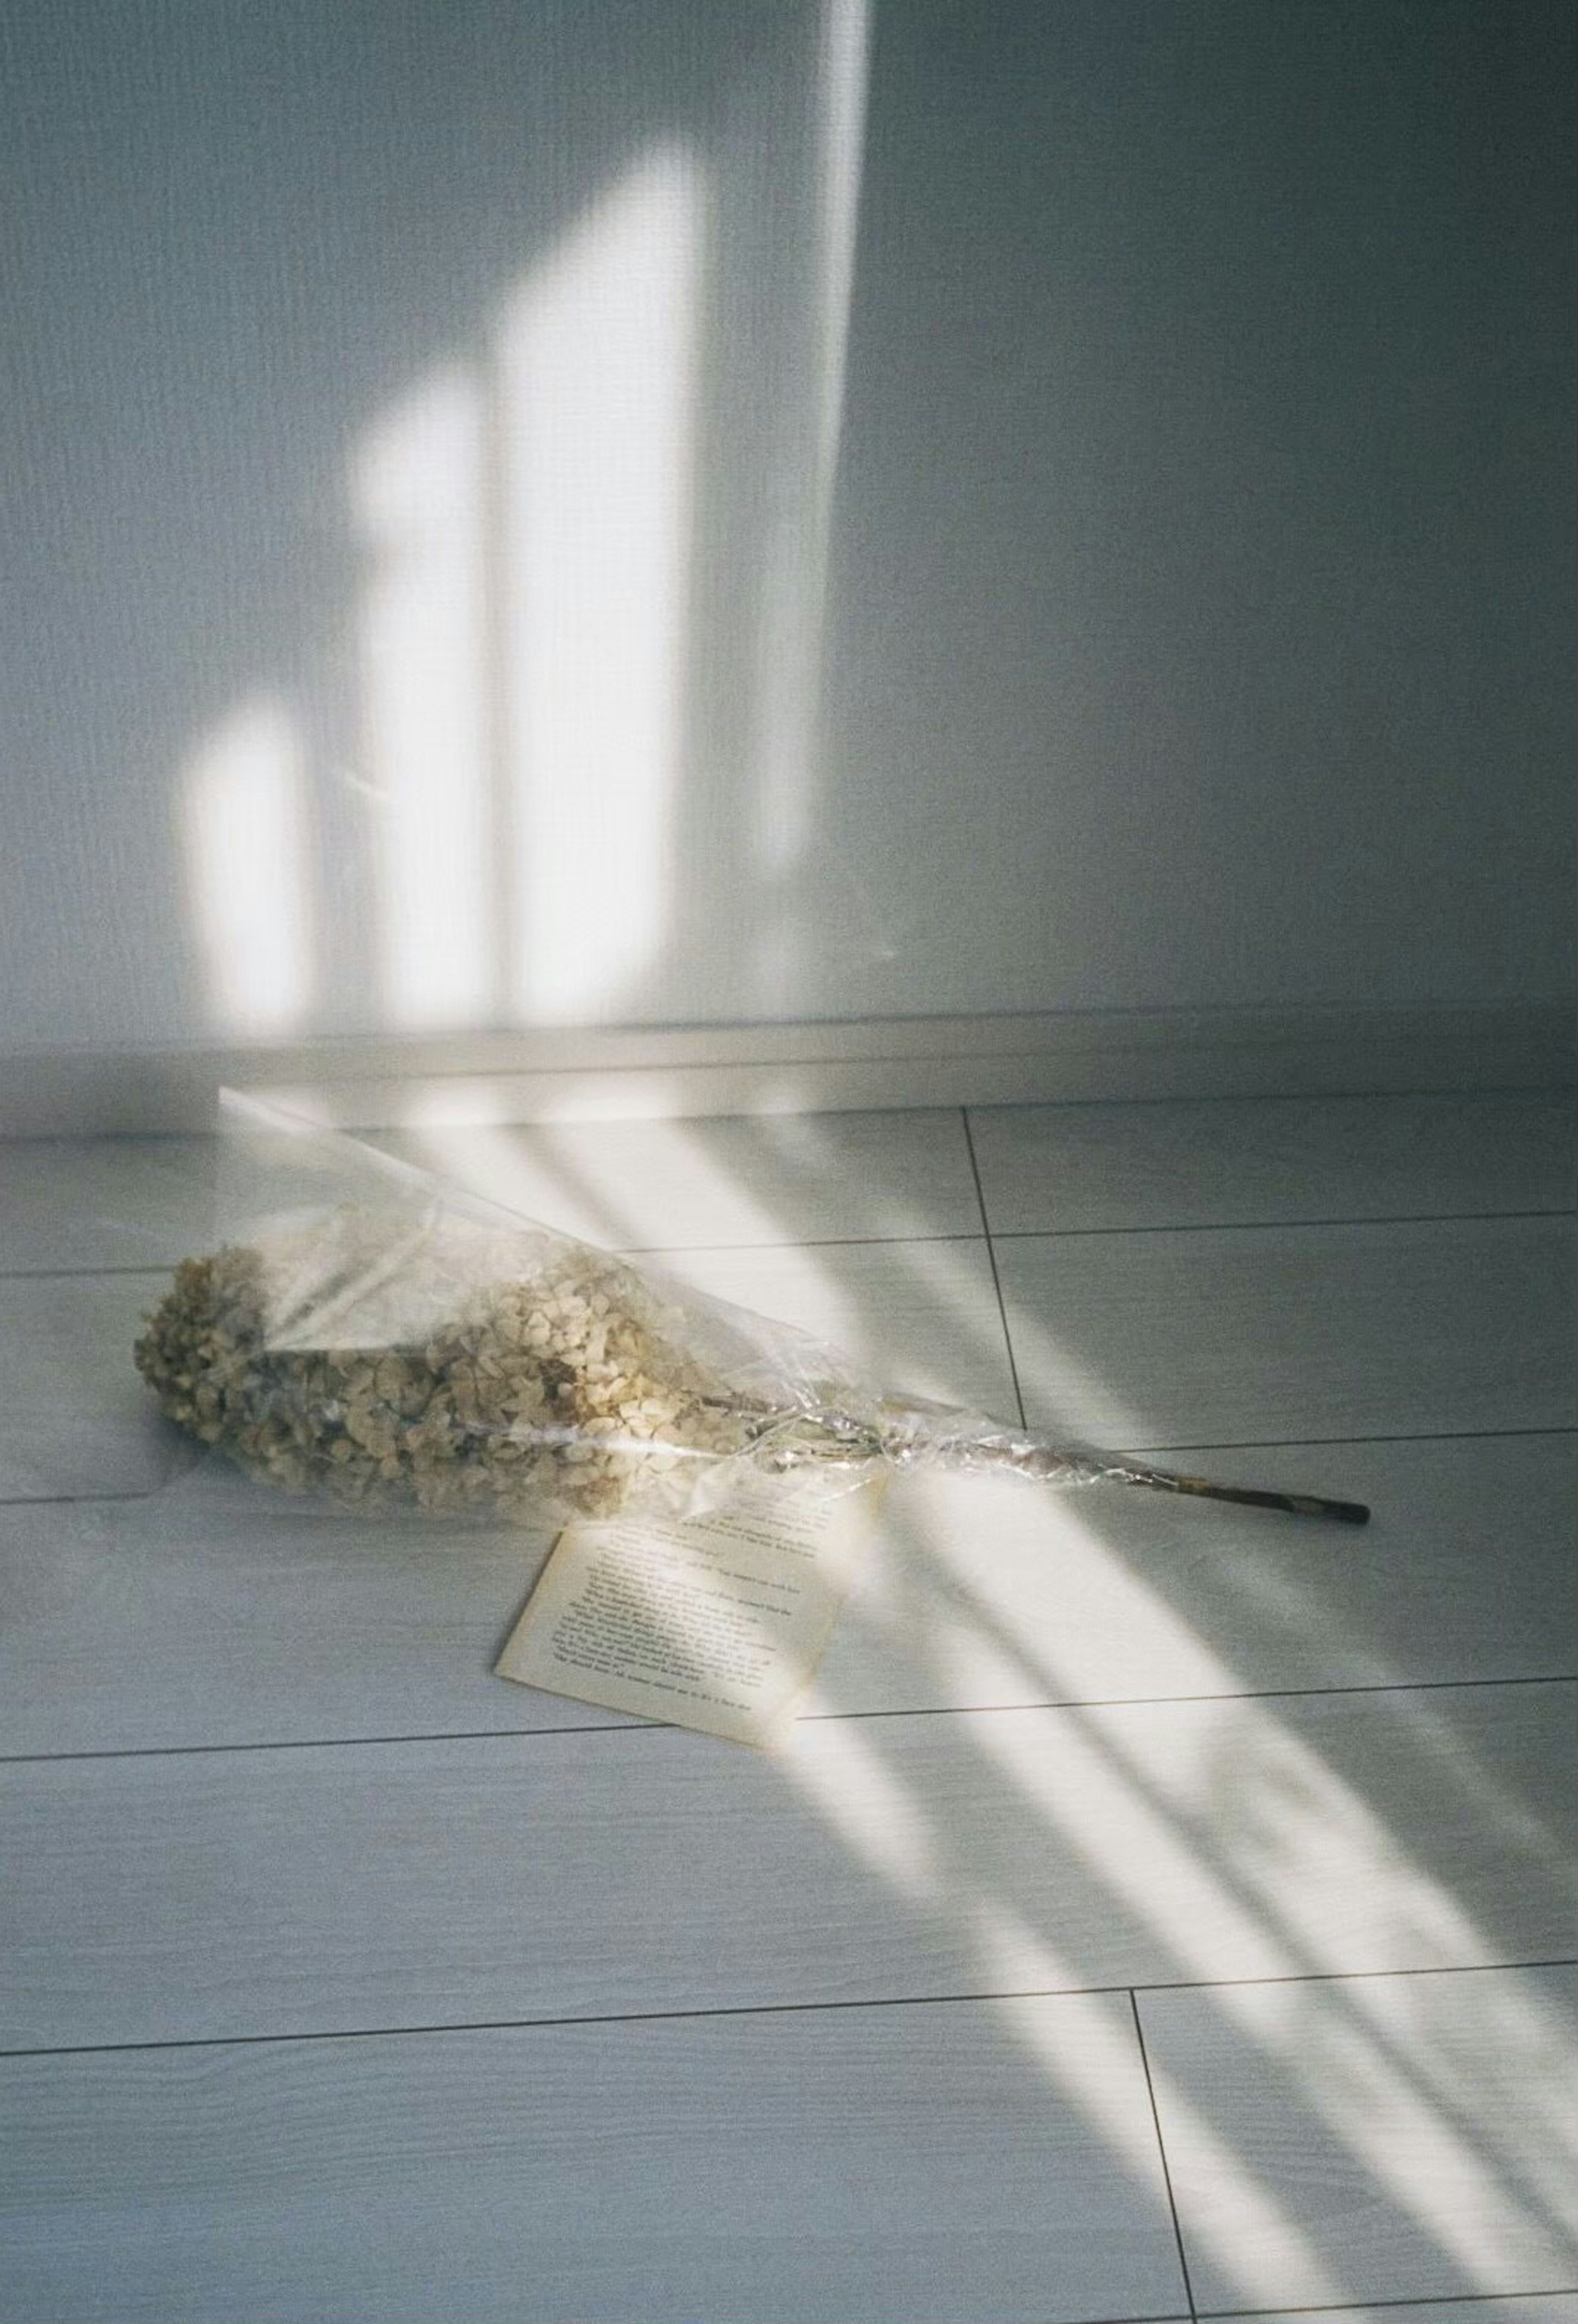
[(1571, 26), (892, 7), (830, 851), (955, 1006), (1571, 981)]

